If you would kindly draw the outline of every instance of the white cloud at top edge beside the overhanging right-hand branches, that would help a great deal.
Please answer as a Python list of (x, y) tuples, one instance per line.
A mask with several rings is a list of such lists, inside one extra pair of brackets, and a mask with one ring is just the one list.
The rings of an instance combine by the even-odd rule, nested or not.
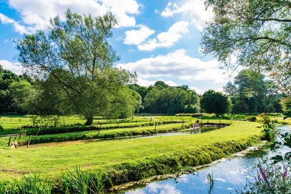
[(190, 13), (194, 17), (191, 24), (199, 31), (203, 30), (203, 22), (213, 16), (212, 8), (210, 7), (208, 10), (205, 10), (205, 5), (202, 0), (188, 0), (182, 5), (169, 2), (161, 15), (163, 17), (172, 17), (180, 13), (183, 15)]

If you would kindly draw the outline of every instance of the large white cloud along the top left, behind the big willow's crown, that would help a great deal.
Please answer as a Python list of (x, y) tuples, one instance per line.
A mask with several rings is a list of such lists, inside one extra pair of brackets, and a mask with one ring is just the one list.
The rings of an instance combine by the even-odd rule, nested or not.
[(51, 17), (60, 16), (64, 20), (67, 8), (81, 15), (84, 13), (92, 16), (111, 11), (119, 23), (117, 27), (135, 26), (132, 15), (139, 14), (140, 6), (136, 0), (9, 0), (8, 3), (20, 13), (21, 22), (27, 27), (10, 18), (10, 21), (6, 18), (6, 22), (13, 24), (16, 32), (21, 34), (45, 30)]

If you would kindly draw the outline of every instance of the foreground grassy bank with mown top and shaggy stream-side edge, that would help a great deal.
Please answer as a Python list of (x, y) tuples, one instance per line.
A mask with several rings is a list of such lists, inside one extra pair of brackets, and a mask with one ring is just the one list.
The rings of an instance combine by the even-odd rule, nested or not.
[(230, 127), (202, 134), (2, 149), (0, 180), (41, 172), (42, 178), (49, 178), (60, 190), (61, 172), (77, 165), (85, 174), (101, 177), (108, 188), (110, 181), (116, 185), (175, 173), (227, 157), (259, 141), (257, 126), (255, 122), (233, 121)]

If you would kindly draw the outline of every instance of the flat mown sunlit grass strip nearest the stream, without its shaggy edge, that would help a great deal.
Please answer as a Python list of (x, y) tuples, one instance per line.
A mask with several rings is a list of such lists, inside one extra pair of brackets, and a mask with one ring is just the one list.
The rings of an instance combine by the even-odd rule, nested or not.
[[(43, 174), (59, 174), (64, 167), (72, 169), (110, 167), (121, 162), (146, 160), (148, 157), (173, 154), (187, 149), (203, 148), (215, 143), (244, 141), (260, 134), (258, 123), (234, 121), (231, 127), (202, 134), (166, 136), (143, 139), (126, 139), (93, 142), (68, 146), (2, 149), (0, 168), (13, 177), (19, 172), (41, 171)], [(18, 173), (17, 173), (18, 172)], [(19, 173), (20, 174), (20, 173)]]

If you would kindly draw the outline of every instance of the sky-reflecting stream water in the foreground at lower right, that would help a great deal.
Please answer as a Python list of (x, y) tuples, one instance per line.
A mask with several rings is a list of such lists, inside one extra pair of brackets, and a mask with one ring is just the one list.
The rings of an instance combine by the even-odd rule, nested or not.
[[(290, 126), (280, 126), (282, 132), (291, 132)], [(288, 152), (279, 149), (277, 152)], [(149, 183), (143, 188), (132, 188), (121, 191), (121, 194), (207, 194), (210, 185), (207, 183), (207, 175), (212, 174), (214, 179), (211, 194), (235, 194), (246, 184), (246, 178), (254, 181), (257, 169), (254, 165), (258, 163), (258, 157), (272, 157), (276, 153), (271, 151), (257, 150), (245, 156), (234, 157), (215, 163), (209, 167), (199, 170), (195, 174), (182, 175), (176, 180), (174, 178)]]

